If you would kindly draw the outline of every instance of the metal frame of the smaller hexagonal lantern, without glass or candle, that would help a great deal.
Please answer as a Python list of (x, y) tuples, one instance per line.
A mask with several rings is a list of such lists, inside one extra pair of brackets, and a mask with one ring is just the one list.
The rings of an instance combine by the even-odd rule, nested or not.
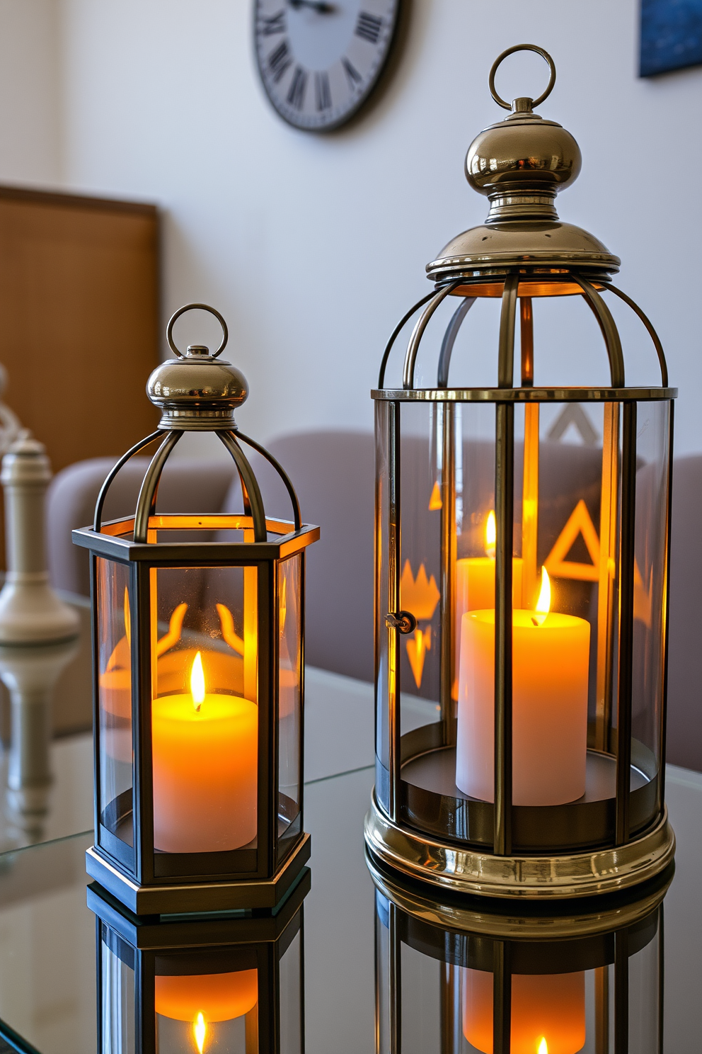
[[(306, 547), (319, 538), (319, 528), (302, 523), (300, 505), (282, 466), (260, 444), (240, 432), (234, 408), (245, 399), (246, 382), (227, 363), (216, 362), (226, 344), (226, 325), (206, 305), (181, 308), (168, 324), (168, 343), (177, 354), (172, 331), (176, 319), (192, 308), (219, 318), (224, 339), (208, 355), (202, 346), (188, 348), (193, 360), (171, 359), (154, 371), (147, 386), (152, 402), (162, 409), (159, 428), (137, 443), (107, 475), (95, 508), (92, 527), (74, 530), (76, 545), (89, 550), (93, 609), (95, 845), (87, 851), (88, 875), (137, 915), (173, 912), (228, 911), (273, 907), (298, 879), (309, 859), (309, 835), (303, 829), (303, 701), (304, 701), (304, 560)], [(203, 382), (203, 370), (205, 380)], [(210, 380), (212, 375), (212, 380)], [(243, 514), (160, 514), (158, 486), (169, 454), (186, 431), (212, 431), (229, 452), (239, 475)], [(160, 441), (146, 469), (135, 514), (108, 523), (102, 510), (120, 469), (141, 450)], [(242, 444), (263, 456), (282, 480), (293, 505), (293, 521), (266, 516), (261, 490)], [(162, 542), (160, 531), (246, 532), (252, 541), (228, 543)], [(273, 538), (270, 538), (273, 535)], [(182, 536), (182, 535), (181, 535)], [(245, 538), (246, 535), (244, 535)], [(300, 724), (298, 759), (299, 813), (286, 837), (277, 829), (278, 703), (279, 703), (279, 577), (277, 568), (293, 557), (300, 560)], [(132, 614), (132, 737), (133, 780), (116, 803), (124, 818), (132, 816), (132, 844), (118, 838), (100, 814), (100, 696), (97, 566), (104, 559), (128, 569)], [(256, 568), (258, 648), (258, 794), (257, 844), (254, 850), (213, 853), (158, 853), (154, 846), (152, 750), (152, 641), (149, 572), (162, 568)], [(237, 866), (242, 862), (245, 868)], [(254, 860), (255, 857), (255, 860)], [(250, 859), (249, 859), (250, 858)], [(253, 865), (255, 863), (255, 865)]]

